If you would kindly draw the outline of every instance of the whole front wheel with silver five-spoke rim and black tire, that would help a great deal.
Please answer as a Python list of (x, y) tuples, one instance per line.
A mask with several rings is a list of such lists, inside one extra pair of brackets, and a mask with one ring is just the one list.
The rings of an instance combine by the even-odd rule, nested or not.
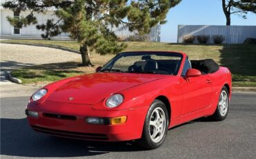
[(163, 144), (169, 124), (169, 116), (165, 104), (154, 100), (147, 112), (143, 127), (143, 136), (138, 140), (140, 147), (156, 149)]

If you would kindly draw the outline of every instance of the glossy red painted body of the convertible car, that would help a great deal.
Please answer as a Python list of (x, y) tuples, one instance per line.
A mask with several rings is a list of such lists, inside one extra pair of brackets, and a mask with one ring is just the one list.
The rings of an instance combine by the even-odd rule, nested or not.
[[(228, 87), (231, 97), (230, 71), (228, 68), (220, 67), (215, 73), (183, 77), (181, 73), (187, 55), (181, 55), (183, 58), (178, 75), (93, 73), (49, 84), (44, 87), (48, 93), (42, 99), (28, 103), (28, 110), (39, 113), (38, 118), (28, 116), (28, 122), (36, 129), (42, 128), (41, 132), (51, 135), (61, 134), (66, 138), (78, 138), (80, 133), (89, 133), (96, 137), (103, 134), (107, 136), (107, 141), (121, 141), (141, 138), (149, 106), (161, 97), (165, 97), (170, 103), (169, 128), (212, 115), (223, 86)], [(115, 93), (122, 94), (124, 102), (116, 108), (109, 109), (105, 102)], [(69, 97), (73, 99), (68, 100)], [(71, 115), (75, 120), (47, 118), (44, 113)], [(125, 124), (97, 125), (86, 124), (84, 121), (87, 117), (120, 116), (127, 116)], [(96, 137), (86, 140), (101, 140), (101, 137)]]

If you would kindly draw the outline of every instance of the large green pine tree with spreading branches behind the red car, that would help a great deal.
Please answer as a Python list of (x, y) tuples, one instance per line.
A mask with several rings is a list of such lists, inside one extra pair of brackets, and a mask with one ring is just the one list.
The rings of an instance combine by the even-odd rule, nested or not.
[(22, 28), (37, 24), (35, 12), (55, 10), (58, 20), (48, 19), (46, 24), (37, 24), (43, 30), (44, 39), (67, 32), (71, 39), (80, 44), (82, 66), (91, 66), (89, 50), (100, 55), (115, 54), (126, 45), (118, 43), (117, 37), (109, 26), (124, 24), (130, 31), (146, 34), (156, 24), (165, 24), (170, 8), (181, 0), (12, 0), (3, 4), (4, 8), (14, 11), (30, 10), (26, 17), (15, 19), (7, 17), (10, 24)]

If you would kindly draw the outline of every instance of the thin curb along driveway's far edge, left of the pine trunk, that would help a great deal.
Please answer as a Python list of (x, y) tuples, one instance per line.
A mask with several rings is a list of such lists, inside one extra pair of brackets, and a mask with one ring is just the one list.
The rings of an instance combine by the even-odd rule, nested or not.
[(56, 48), (56, 49), (60, 49), (60, 50), (66, 50), (66, 51), (69, 51), (69, 52), (72, 52), (72, 53), (80, 54), (79, 50), (74, 50), (72, 48), (66, 48), (66, 47), (63, 47), (63, 46), (56, 46), (56, 45), (16, 43), (16, 42), (5, 42), (5, 41), (1, 41), (1, 44), (17, 44), (17, 45), (28, 45), (28, 46), (42, 46), (42, 47), (47, 47), (47, 48)]

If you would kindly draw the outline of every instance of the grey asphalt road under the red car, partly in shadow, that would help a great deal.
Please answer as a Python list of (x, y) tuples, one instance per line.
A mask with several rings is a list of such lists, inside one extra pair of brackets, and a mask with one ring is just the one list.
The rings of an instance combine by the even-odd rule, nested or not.
[(256, 93), (234, 93), (223, 122), (194, 121), (168, 131), (159, 149), (127, 142), (85, 142), (35, 133), (28, 96), (1, 98), (1, 158), (255, 158)]

